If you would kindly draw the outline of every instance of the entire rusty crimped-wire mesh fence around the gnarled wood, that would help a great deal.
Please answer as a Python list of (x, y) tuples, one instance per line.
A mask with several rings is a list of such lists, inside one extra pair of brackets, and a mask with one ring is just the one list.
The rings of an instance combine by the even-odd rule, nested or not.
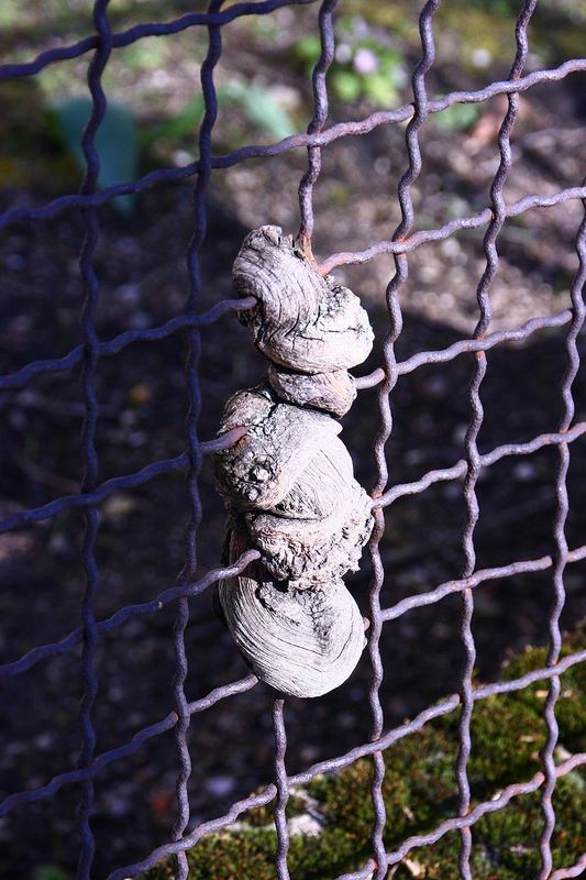
[[(85, 473), (81, 491), (76, 495), (58, 497), (42, 507), (19, 512), (1, 522), (1, 531), (19, 529), (34, 522), (54, 517), (64, 510), (78, 508), (84, 512), (86, 528), (81, 549), (82, 564), (86, 572), (86, 590), (82, 600), (82, 624), (51, 645), (41, 645), (29, 651), (25, 656), (1, 668), (2, 678), (18, 675), (31, 669), (41, 661), (49, 662), (58, 654), (65, 654), (76, 646), (81, 646), (81, 676), (84, 682), (84, 697), (80, 705), (80, 723), (82, 728), (82, 744), (78, 767), (76, 770), (63, 772), (47, 781), (44, 785), (30, 791), (13, 793), (0, 805), (0, 814), (23, 806), (35, 801), (51, 799), (62, 787), (78, 785), (80, 791), (79, 833), (81, 851), (79, 858), (78, 877), (89, 878), (95, 854), (95, 838), (91, 829), (90, 815), (93, 803), (93, 781), (102, 768), (113, 761), (122, 761), (136, 752), (150, 738), (174, 729), (176, 749), (179, 759), (177, 777), (177, 817), (172, 838), (156, 847), (152, 853), (133, 865), (118, 868), (109, 875), (109, 880), (123, 880), (136, 877), (142, 871), (154, 866), (164, 857), (176, 857), (176, 877), (188, 876), (186, 850), (190, 849), (204, 835), (225, 828), (233, 823), (244, 811), (268, 804), (276, 800), (275, 826), (277, 833), (276, 873), (279, 880), (289, 877), (287, 867), (288, 828), (285, 810), (291, 787), (307, 783), (320, 773), (339, 770), (347, 767), (358, 758), (371, 756), (374, 762), (372, 783), (372, 800), (375, 810), (375, 825), (372, 834), (373, 857), (361, 870), (343, 875), (339, 880), (354, 878), (376, 878), (380, 880), (387, 876), (390, 866), (396, 866), (414, 847), (431, 846), (444, 834), (458, 831), (461, 834), (460, 873), (462, 878), (471, 878), (471, 846), (473, 826), (482, 816), (505, 807), (509, 801), (520, 794), (541, 792), (541, 810), (543, 828), (540, 839), (541, 869), (539, 879), (562, 880), (562, 878), (578, 877), (586, 869), (586, 857), (570, 867), (552, 865), (551, 839), (555, 827), (555, 813), (552, 806), (552, 794), (556, 780), (572, 771), (574, 768), (586, 763), (586, 755), (573, 755), (561, 763), (555, 762), (554, 754), (557, 741), (557, 726), (555, 721), (556, 701), (560, 696), (560, 675), (570, 667), (586, 659), (586, 651), (571, 653), (561, 659), (561, 630), (560, 618), (564, 607), (564, 570), (567, 565), (586, 558), (586, 544), (568, 548), (564, 528), (568, 513), (568, 498), (566, 491), (566, 475), (570, 462), (571, 443), (586, 433), (586, 422), (574, 422), (574, 402), (572, 385), (579, 367), (577, 336), (582, 329), (585, 309), (583, 302), (583, 286), (586, 279), (586, 219), (577, 232), (576, 251), (579, 267), (573, 280), (568, 307), (553, 317), (533, 318), (522, 327), (512, 330), (490, 331), (491, 306), (490, 285), (498, 271), (498, 237), (508, 218), (516, 217), (524, 211), (546, 208), (570, 199), (586, 199), (586, 186), (576, 182), (572, 188), (559, 191), (554, 196), (528, 196), (520, 201), (507, 205), (504, 199), (504, 186), (511, 167), (510, 136), (516, 122), (519, 108), (519, 94), (539, 82), (556, 81), (577, 70), (586, 70), (586, 59), (571, 59), (555, 69), (545, 69), (523, 75), (528, 55), (528, 25), (534, 10), (537, 0), (522, 4), (516, 26), (517, 54), (512, 62), (510, 76), (507, 80), (491, 82), (478, 91), (455, 91), (445, 95), (439, 100), (429, 100), (425, 90), (425, 75), (434, 61), (433, 15), (440, 0), (429, 0), (420, 15), (421, 58), (412, 75), (413, 101), (398, 110), (380, 111), (373, 113), (360, 121), (339, 123), (327, 128), (328, 91), (327, 73), (334, 55), (334, 26), (333, 13), (338, 0), (325, 0), (319, 13), (319, 30), (321, 38), (321, 57), (313, 72), (314, 116), (309, 124), (307, 134), (298, 134), (268, 145), (248, 145), (234, 150), (225, 155), (213, 155), (211, 152), (211, 133), (218, 114), (218, 102), (214, 89), (214, 68), (222, 53), (222, 29), (243, 15), (266, 15), (285, 6), (299, 6), (313, 2), (313, 0), (258, 0), (258, 2), (235, 3), (222, 11), (222, 0), (211, 0), (206, 13), (189, 13), (168, 23), (137, 24), (126, 31), (113, 33), (108, 21), (108, 0), (97, 0), (93, 6), (93, 20), (96, 33), (75, 45), (54, 48), (42, 53), (34, 61), (26, 64), (4, 65), (0, 67), (0, 80), (31, 76), (49, 64), (59, 61), (76, 58), (84, 53), (91, 52), (92, 59), (89, 66), (88, 86), (92, 99), (92, 112), (82, 135), (82, 150), (86, 158), (86, 175), (79, 194), (66, 195), (46, 205), (36, 208), (18, 208), (0, 216), (0, 227), (5, 228), (18, 221), (42, 221), (54, 217), (62, 211), (79, 209), (82, 212), (86, 235), (80, 253), (80, 271), (85, 282), (86, 298), (82, 308), (82, 342), (67, 355), (54, 360), (43, 360), (29, 363), (22, 370), (11, 375), (0, 377), (0, 388), (23, 387), (35, 376), (66, 371), (79, 366), (86, 407), (86, 418), (81, 435), (81, 444), (85, 455)], [(137, 183), (121, 183), (106, 189), (98, 189), (99, 156), (95, 146), (96, 134), (104, 117), (107, 96), (102, 88), (102, 74), (109, 57), (117, 47), (128, 46), (145, 36), (170, 35), (185, 29), (200, 28), (207, 31), (208, 53), (201, 67), (201, 87), (206, 103), (206, 112), (199, 132), (199, 160), (184, 167), (174, 169), (159, 169), (153, 172)], [(500, 125), (498, 135), (498, 150), (500, 164), (494, 177), (488, 207), (480, 213), (472, 217), (460, 217), (439, 229), (414, 231), (414, 212), (411, 199), (411, 187), (417, 180), (421, 169), (419, 138), (422, 127), (430, 113), (439, 112), (455, 103), (476, 103), (485, 101), (496, 95), (506, 95), (508, 109)], [(313, 229), (312, 190), (318, 179), (321, 165), (321, 152), (328, 144), (340, 138), (361, 135), (372, 131), (375, 127), (407, 121), (406, 131), (406, 169), (399, 184), (399, 204), (401, 221), (388, 241), (376, 242), (365, 251), (354, 253), (338, 253), (324, 261), (321, 268), (325, 273), (342, 264), (356, 264), (371, 260), (377, 254), (389, 253), (395, 258), (395, 273), (390, 279), (386, 300), (388, 306), (388, 332), (384, 341), (384, 364), (369, 376), (358, 380), (360, 388), (377, 388), (377, 406), (379, 410), (379, 430), (374, 439), (374, 457), (377, 466), (376, 484), (373, 487), (373, 510), (375, 527), (369, 541), (369, 558), (374, 572), (369, 594), (369, 629), (368, 652), (372, 662), (372, 683), (369, 689), (369, 711), (372, 713), (371, 739), (357, 746), (345, 755), (331, 760), (321, 761), (309, 767), (297, 776), (288, 776), (286, 770), (286, 727), (284, 722), (284, 700), (278, 696), (274, 702), (273, 723), (275, 733), (275, 760), (274, 783), (268, 784), (261, 793), (241, 800), (232, 805), (225, 813), (213, 821), (204, 822), (187, 832), (190, 823), (187, 783), (190, 776), (191, 762), (186, 741), (187, 730), (191, 716), (204, 711), (220, 700), (242, 693), (254, 688), (257, 680), (254, 675), (228, 683), (212, 691), (202, 700), (189, 703), (186, 698), (184, 684), (187, 675), (187, 657), (185, 650), (185, 630), (189, 620), (189, 597), (202, 593), (220, 579), (228, 574), (243, 572), (246, 565), (257, 557), (256, 551), (248, 551), (234, 565), (229, 569), (209, 571), (204, 576), (194, 581), (196, 569), (196, 534), (201, 520), (202, 512), (198, 493), (198, 473), (202, 455), (219, 449), (218, 441), (201, 442), (197, 433), (198, 414), (200, 410), (200, 386), (198, 381), (198, 356), (200, 348), (200, 333), (202, 328), (221, 319), (226, 312), (241, 310), (247, 302), (242, 300), (223, 300), (218, 302), (207, 312), (198, 310), (198, 300), (201, 288), (199, 254), (206, 239), (206, 189), (213, 169), (228, 168), (236, 163), (253, 156), (261, 156), (267, 161), (286, 151), (307, 147), (308, 170), (300, 184), (300, 233), (308, 240), (311, 239)], [(95, 329), (95, 314), (99, 297), (99, 279), (97, 278), (93, 255), (100, 235), (98, 221), (98, 207), (120, 195), (129, 195), (144, 190), (155, 185), (164, 185), (172, 180), (186, 177), (196, 177), (195, 183), (195, 229), (188, 248), (187, 261), (189, 267), (190, 290), (188, 294), (185, 314), (173, 318), (168, 322), (148, 330), (131, 330), (113, 339), (100, 340)], [(484, 238), (485, 268), (477, 287), (479, 319), (476, 331), (471, 339), (462, 339), (441, 351), (421, 351), (403, 362), (397, 362), (395, 343), (401, 332), (401, 309), (399, 293), (408, 275), (409, 253), (424, 242), (440, 241), (462, 229), (487, 227)], [(213, 246), (210, 243), (209, 246)], [(561, 398), (563, 417), (556, 430), (542, 433), (524, 443), (499, 446), (489, 452), (480, 454), (477, 438), (483, 425), (482, 383), (487, 371), (486, 352), (507, 341), (527, 340), (533, 333), (544, 328), (566, 329), (567, 367)], [(136, 473), (124, 474), (107, 482), (98, 481), (98, 455), (95, 446), (96, 424), (98, 419), (98, 399), (96, 395), (95, 377), (101, 358), (117, 354), (135, 342), (156, 342), (172, 333), (185, 333), (189, 341), (189, 359), (186, 371), (186, 381), (189, 393), (190, 407), (187, 418), (187, 451), (173, 459), (156, 461)], [(469, 424), (465, 438), (465, 455), (452, 468), (430, 471), (420, 480), (412, 483), (391, 485), (385, 455), (385, 447), (392, 429), (391, 393), (401, 375), (412, 372), (425, 364), (438, 364), (451, 361), (463, 352), (475, 353), (475, 366), (472, 375), (468, 403)], [(222, 443), (234, 442), (234, 437), (222, 438)], [(476, 484), (483, 469), (489, 468), (495, 462), (506, 457), (526, 455), (554, 446), (557, 449), (559, 465), (555, 480), (557, 512), (554, 526), (555, 552), (537, 559), (526, 559), (511, 562), (500, 568), (476, 570), (475, 565), (475, 527), (478, 521), (479, 509), (476, 497)], [(100, 527), (99, 505), (112, 493), (119, 490), (129, 491), (140, 486), (154, 477), (169, 472), (187, 472), (189, 497), (189, 525), (186, 534), (185, 568), (178, 585), (172, 586), (161, 593), (156, 598), (143, 604), (130, 605), (120, 608), (107, 619), (97, 619), (93, 612), (93, 600), (99, 578), (98, 563), (95, 554), (95, 543)], [(450, 581), (436, 586), (429, 592), (414, 595), (398, 602), (396, 605), (382, 608), (380, 590), (384, 581), (384, 569), (378, 544), (385, 528), (385, 509), (397, 498), (406, 495), (424, 492), (429, 486), (440, 481), (464, 480), (464, 495), (467, 509), (467, 519), (462, 536), (465, 553), (465, 568), (460, 580)], [(549, 612), (550, 646), (546, 666), (528, 673), (521, 678), (507, 682), (495, 682), (484, 686), (473, 684), (473, 668), (475, 663), (475, 641), (472, 629), (474, 613), (474, 588), (487, 581), (506, 579), (523, 572), (550, 570), (552, 574), (552, 607)], [(383, 624), (397, 619), (409, 613), (412, 608), (431, 605), (440, 602), (449, 594), (457, 593), (462, 600), (461, 637), (465, 650), (465, 668), (462, 671), (460, 692), (444, 698), (440, 703), (420, 712), (409, 723), (401, 724), (394, 729), (385, 729), (383, 707), (378, 692), (384, 676), (384, 667), (379, 651), (379, 637)], [(98, 689), (96, 668), (96, 648), (100, 637), (121, 627), (126, 620), (137, 615), (147, 615), (161, 609), (167, 604), (176, 606), (176, 623), (174, 628), (176, 676), (174, 681), (175, 712), (134, 734), (132, 739), (118, 748), (102, 754), (97, 752), (96, 730), (93, 725), (93, 704)], [(494, 800), (471, 804), (471, 787), (467, 773), (467, 761), (471, 752), (471, 717), (474, 704), (493, 694), (520, 691), (537, 681), (549, 682), (549, 693), (545, 701), (544, 719), (548, 729), (546, 743), (541, 760), (542, 770), (532, 779), (519, 781), (507, 785)], [(456, 778), (460, 791), (457, 815), (442, 822), (429, 834), (409, 837), (391, 853), (386, 851), (383, 842), (385, 828), (385, 805), (383, 800), (383, 782), (385, 766), (383, 752), (401, 737), (419, 730), (427, 722), (438, 718), (460, 706), (460, 749), (456, 767)], [(388, 817), (392, 820), (392, 817)]]

